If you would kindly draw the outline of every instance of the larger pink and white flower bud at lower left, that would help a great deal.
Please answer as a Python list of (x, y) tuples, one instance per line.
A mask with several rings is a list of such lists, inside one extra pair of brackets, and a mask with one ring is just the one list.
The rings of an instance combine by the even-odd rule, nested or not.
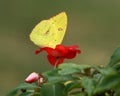
[(33, 82), (35, 82), (35, 81), (38, 80), (38, 79), (39, 79), (38, 73), (33, 72), (33, 73), (31, 73), (31, 74), (25, 79), (25, 82), (27, 82), (27, 83), (33, 83)]

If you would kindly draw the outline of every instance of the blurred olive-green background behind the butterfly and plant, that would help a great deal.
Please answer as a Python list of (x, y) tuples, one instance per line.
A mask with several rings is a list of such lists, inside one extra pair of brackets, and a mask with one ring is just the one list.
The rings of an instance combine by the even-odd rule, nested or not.
[(107, 64), (120, 45), (120, 0), (0, 0), (0, 96), (5, 96), (33, 71), (52, 67), (45, 52), (29, 40), (34, 26), (65, 11), (68, 27), (65, 45), (79, 45), (82, 54), (73, 60)]

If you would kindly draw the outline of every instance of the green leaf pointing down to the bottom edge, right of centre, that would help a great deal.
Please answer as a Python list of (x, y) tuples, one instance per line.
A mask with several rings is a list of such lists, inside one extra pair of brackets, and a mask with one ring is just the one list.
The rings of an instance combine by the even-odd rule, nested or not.
[(95, 88), (96, 82), (90, 77), (83, 77), (81, 80), (88, 96), (93, 96), (93, 90)]

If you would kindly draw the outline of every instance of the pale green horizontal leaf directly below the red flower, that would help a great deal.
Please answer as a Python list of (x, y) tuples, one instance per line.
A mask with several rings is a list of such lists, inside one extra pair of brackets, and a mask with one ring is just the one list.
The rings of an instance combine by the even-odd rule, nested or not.
[(77, 65), (74, 63), (63, 63), (61, 64), (58, 69), (58, 72), (61, 75), (73, 74), (73, 73), (83, 73), (84, 69), (90, 68), (90, 65), (82, 64)]

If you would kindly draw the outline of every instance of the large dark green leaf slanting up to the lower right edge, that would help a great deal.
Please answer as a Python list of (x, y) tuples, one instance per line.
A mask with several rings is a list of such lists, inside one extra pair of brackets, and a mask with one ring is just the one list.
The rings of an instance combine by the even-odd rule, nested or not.
[(105, 90), (113, 89), (117, 84), (120, 83), (120, 74), (111, 74), (103, 76), (96, 86), (95, 93), (103, 92)]

